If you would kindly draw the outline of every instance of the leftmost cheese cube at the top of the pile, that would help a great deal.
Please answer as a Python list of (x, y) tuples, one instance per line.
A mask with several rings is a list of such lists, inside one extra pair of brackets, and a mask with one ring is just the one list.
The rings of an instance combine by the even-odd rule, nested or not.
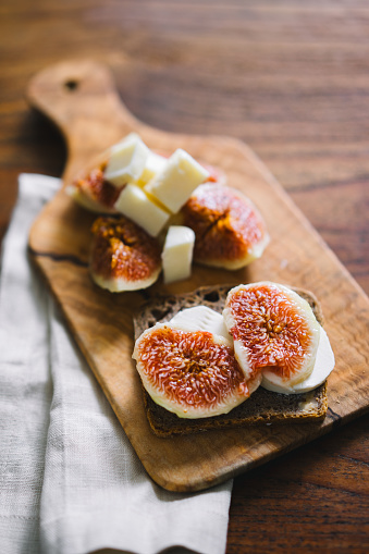
[(143, 174), (149, 153), (150, 150), (139, 136), (131, 133), (110, 149), (104, 170), (106, 180), (115, 186), (136, 181)]

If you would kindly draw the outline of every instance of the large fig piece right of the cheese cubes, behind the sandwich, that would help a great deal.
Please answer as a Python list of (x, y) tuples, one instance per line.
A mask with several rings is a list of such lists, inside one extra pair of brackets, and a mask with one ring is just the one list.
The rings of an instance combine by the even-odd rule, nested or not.
[(239, 269), (259, 258), (269, 243), (265, 221), (254, 204), (229, 186), (206, 183), (181, 210), (183, 224), (196, 235), (194, 260)]

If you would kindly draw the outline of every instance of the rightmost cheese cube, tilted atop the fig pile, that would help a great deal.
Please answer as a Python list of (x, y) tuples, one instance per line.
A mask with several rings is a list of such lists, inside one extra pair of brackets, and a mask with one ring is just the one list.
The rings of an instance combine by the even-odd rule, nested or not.
[(195, 188), (209, 172), (189, 153), (179, 148), (169, 158), (163, 171), (150, 181), (145, 189), (158, 198), (172, 213), (176, 213), (188, 200)]

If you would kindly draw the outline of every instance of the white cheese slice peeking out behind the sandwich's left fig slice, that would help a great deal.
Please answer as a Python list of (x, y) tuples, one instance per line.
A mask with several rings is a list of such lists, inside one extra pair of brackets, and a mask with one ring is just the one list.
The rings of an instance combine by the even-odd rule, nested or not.
[(207, 306), (194, 306), (181, 310), (167, 324), (182, 331), (208, 331), (223, 336), (230, 345), (233, 342), (222, 315)]

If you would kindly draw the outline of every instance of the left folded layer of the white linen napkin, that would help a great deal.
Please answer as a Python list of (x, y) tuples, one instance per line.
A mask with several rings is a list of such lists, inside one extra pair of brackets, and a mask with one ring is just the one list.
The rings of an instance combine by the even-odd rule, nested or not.
[[(59, 187), (26, 175), (2, 245), (0, 280), (0, 552), (37, 553), (52, 383), (49, 296), (27, 258), (35, 216)], [(36, 193), (36, 194), (35, 194)]]

